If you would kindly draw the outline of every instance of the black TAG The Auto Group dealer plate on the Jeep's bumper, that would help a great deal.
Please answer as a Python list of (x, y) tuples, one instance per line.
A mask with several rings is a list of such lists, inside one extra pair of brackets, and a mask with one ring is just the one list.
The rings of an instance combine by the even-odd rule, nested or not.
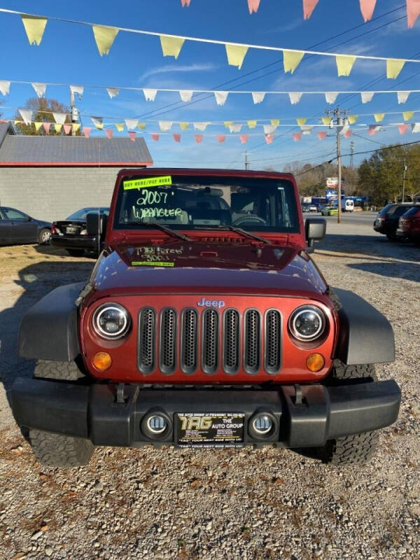
[(178, 447), (242, 447), (244, 412), (176, 412)]

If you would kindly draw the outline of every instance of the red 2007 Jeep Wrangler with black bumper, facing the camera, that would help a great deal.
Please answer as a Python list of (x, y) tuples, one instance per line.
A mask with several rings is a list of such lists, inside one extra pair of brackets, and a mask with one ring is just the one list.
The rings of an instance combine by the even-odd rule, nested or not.
[[(126, 169), (109, 218), (87, 216), (104, 250), (85, 284), (25, 315), (12, 388), (38, 461), (87, 463), (94, 446), (318, 449), (365, 461), (395, 421), (391, 325), (328, 286), (308, 253), (290, 174)], [(102, 234), (103, 232), (103, 234)]]

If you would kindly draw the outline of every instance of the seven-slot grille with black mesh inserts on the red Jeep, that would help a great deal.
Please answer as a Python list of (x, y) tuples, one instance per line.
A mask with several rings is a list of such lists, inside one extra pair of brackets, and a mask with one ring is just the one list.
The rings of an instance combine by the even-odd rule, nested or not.
[(276, 309), (265, 315), (248, 309), (242, 316), (237, 309), (208, 308), (199, 314), (190, 307), (181, 313), (172, 307), (160, 312), (144, 307), (138, 340), (139, 370), (145, 374), (157, 365), (169, 375), (177, 369), (194, 374), (199, 368), (213, 374), (219, 367), (232, 375), (241, 367), (248, 374), (262, 367), (276, 374), (281, 368), (281, 314)]

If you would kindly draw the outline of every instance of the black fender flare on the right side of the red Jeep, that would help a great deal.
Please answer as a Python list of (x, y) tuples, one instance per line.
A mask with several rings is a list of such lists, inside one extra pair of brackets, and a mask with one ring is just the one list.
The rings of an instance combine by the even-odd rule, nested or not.
[(339, 316), (334, 357), (346, 365), (393, 362), (395, 341), (388, 319), (353, 292), (333, 288), (333, 293)]

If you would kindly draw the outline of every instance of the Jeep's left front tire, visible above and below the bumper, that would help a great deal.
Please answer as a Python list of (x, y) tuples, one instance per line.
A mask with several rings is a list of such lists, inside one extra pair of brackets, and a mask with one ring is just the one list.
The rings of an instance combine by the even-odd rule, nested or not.
[[(86, 379), (75, 361), (55, 362), (50, 360), (38, 360), (34, 377), (79, 382)], [(90, 440), (35, 429), (29, 429), (29, 442), (38, 462), (48, 467), (87, 465), (94, 450)]]

